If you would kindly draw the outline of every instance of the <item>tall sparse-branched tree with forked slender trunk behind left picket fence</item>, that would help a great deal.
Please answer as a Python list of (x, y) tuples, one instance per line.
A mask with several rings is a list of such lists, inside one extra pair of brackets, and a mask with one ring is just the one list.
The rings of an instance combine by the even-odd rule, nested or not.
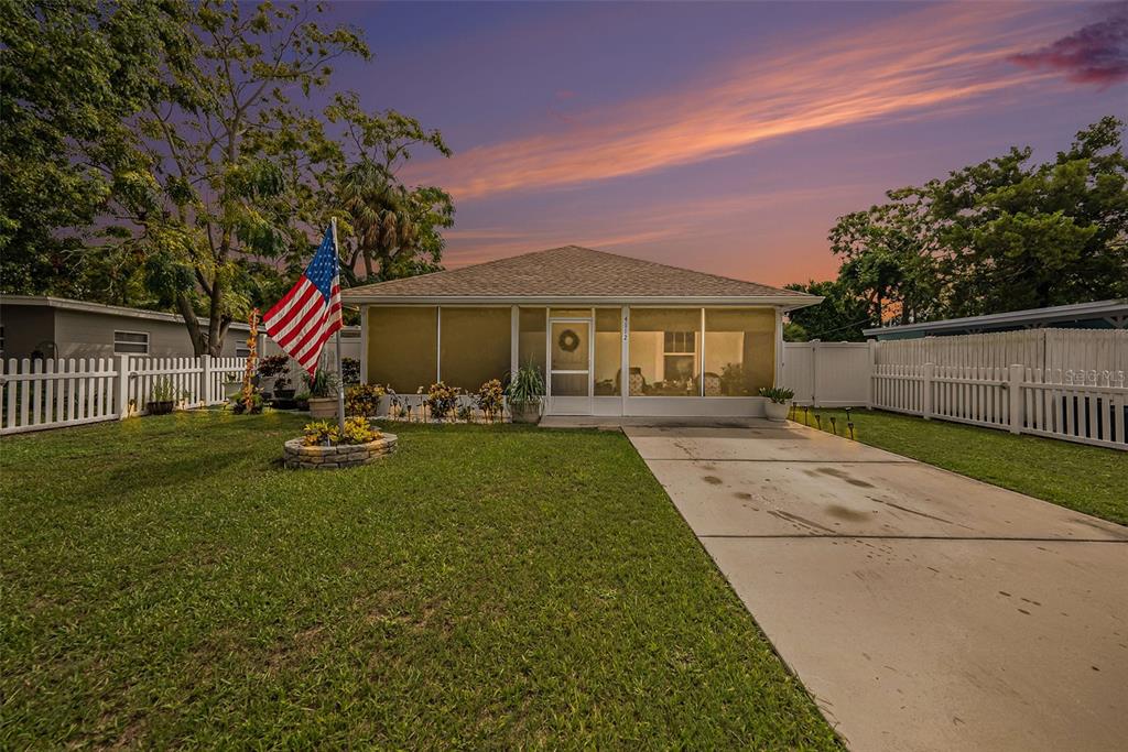
[(164, 96), (136, 117), (142, 158), (116, 175), (123, 222), (109, 230), (144, 255), (151, 289), (184, 316), (197, 353), (220, 352), (262, 275), (305, 257), (307, 229), (332, 211), (321, 197), (341, 150), (307, 98), (335, 60), (369, 51), (319, 12), (193, 6), (192, 63), (165, 67)]

